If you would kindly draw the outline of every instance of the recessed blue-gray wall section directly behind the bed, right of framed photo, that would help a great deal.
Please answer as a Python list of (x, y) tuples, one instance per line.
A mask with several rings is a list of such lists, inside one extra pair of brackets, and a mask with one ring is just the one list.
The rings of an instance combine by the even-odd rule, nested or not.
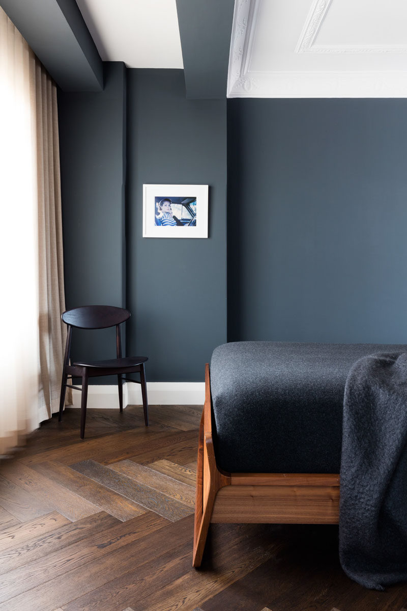
[(228, 101), (228, 338), (407, 342), (407, 101)]

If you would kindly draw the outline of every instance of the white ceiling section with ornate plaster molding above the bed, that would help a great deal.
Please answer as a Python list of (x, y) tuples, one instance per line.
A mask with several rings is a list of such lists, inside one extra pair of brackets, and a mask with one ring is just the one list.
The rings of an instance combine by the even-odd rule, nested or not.
[(407, 5), (391, 1), (235, 0), (228, 98), (407, 97)]

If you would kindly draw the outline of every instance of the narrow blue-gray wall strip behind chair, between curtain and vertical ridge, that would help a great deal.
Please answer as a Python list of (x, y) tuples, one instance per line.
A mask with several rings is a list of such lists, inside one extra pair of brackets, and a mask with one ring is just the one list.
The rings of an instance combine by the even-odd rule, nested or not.
[[(102, 92), (58, 92), (67, 308), (126, 302), (124, 64), (105, 63), (104, 82)], [(115, 356), (114, 333), (77, 331), (72, 348), (74, 358)]]

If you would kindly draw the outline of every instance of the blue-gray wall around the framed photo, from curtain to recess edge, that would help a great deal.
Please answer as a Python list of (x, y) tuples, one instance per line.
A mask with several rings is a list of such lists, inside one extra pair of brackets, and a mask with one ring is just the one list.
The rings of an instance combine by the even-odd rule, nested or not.
[[(103, 92), (59, 92), (67, 307), (128, 307), (148, 380), (201, 381), (226, 342), (226, 100), (187, 100), (182, 70), (104, 68)], [(209, 185), (209, 238), (142, 238), (143, 183)], [(76, 332), (73, 356), (114, 356), (110, 331)]]

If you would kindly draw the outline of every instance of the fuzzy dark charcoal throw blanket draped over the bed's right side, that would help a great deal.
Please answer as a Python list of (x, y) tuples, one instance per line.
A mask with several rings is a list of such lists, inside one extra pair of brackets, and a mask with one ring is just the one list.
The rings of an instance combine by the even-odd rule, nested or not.
[(339, 554), (367, 588), (407, 580), (407, 353), (362, 357), (348, 375)]

